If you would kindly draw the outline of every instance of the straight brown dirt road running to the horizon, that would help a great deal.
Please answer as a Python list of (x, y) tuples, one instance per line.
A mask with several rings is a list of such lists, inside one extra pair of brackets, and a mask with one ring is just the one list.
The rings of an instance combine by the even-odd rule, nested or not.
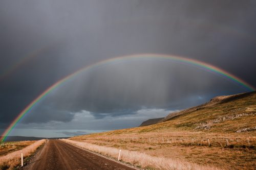
[(25, 169), (135, 170), (60, 140), (48, 140), (35, 157)]

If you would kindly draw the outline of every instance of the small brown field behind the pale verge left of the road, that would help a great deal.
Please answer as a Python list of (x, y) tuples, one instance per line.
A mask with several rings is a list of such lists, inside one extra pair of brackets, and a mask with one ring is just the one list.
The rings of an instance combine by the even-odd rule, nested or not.
[(28, 145), (31, 145), (35, 140), (19, 141), (19, 142), (5, 142), (0, 145), (0, 156), (10, 154), (11, 152), (21, 150)]

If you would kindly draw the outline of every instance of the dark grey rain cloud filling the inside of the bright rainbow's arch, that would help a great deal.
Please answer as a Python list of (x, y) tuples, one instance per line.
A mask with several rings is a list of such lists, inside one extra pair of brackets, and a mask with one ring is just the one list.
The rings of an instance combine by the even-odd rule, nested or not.
[[(142, 107), (186, 108), (202, 103), (200, 95), (206, 96), (205, 101), (224, 91), (236, 93), (238, 86), (192, 66), (151, 59), (84, 72), (49, 94), (40, 106), (87, 110), (95, 118), (103, 118), (136, 114)], [(40, 106), (33, 113), (39, 113)]]

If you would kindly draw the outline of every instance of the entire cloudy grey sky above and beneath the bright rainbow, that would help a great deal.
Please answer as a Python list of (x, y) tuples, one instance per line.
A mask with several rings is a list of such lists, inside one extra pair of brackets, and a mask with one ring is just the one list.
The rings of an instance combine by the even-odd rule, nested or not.
[[(255, 18), (255, 1), (1, 1), (0, 133), (48, 87), (114, 57), (195, 59), (256, 87)], [(111, 63), (50, 92), (10, 135), (65, 137), (137, 127), (214, 96), (248, 91), (171, 60)]]

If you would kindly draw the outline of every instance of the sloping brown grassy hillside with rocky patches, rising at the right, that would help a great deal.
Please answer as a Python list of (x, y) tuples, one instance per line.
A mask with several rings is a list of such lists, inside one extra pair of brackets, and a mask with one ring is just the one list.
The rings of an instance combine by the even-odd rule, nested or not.
[(176, 130), (249, 132), (255, 130), (255, 113), (256, 92), (250, 92), (216, 97), (179, 115), (170, 114), (165, 118), (165, 123), (159, 125)]

